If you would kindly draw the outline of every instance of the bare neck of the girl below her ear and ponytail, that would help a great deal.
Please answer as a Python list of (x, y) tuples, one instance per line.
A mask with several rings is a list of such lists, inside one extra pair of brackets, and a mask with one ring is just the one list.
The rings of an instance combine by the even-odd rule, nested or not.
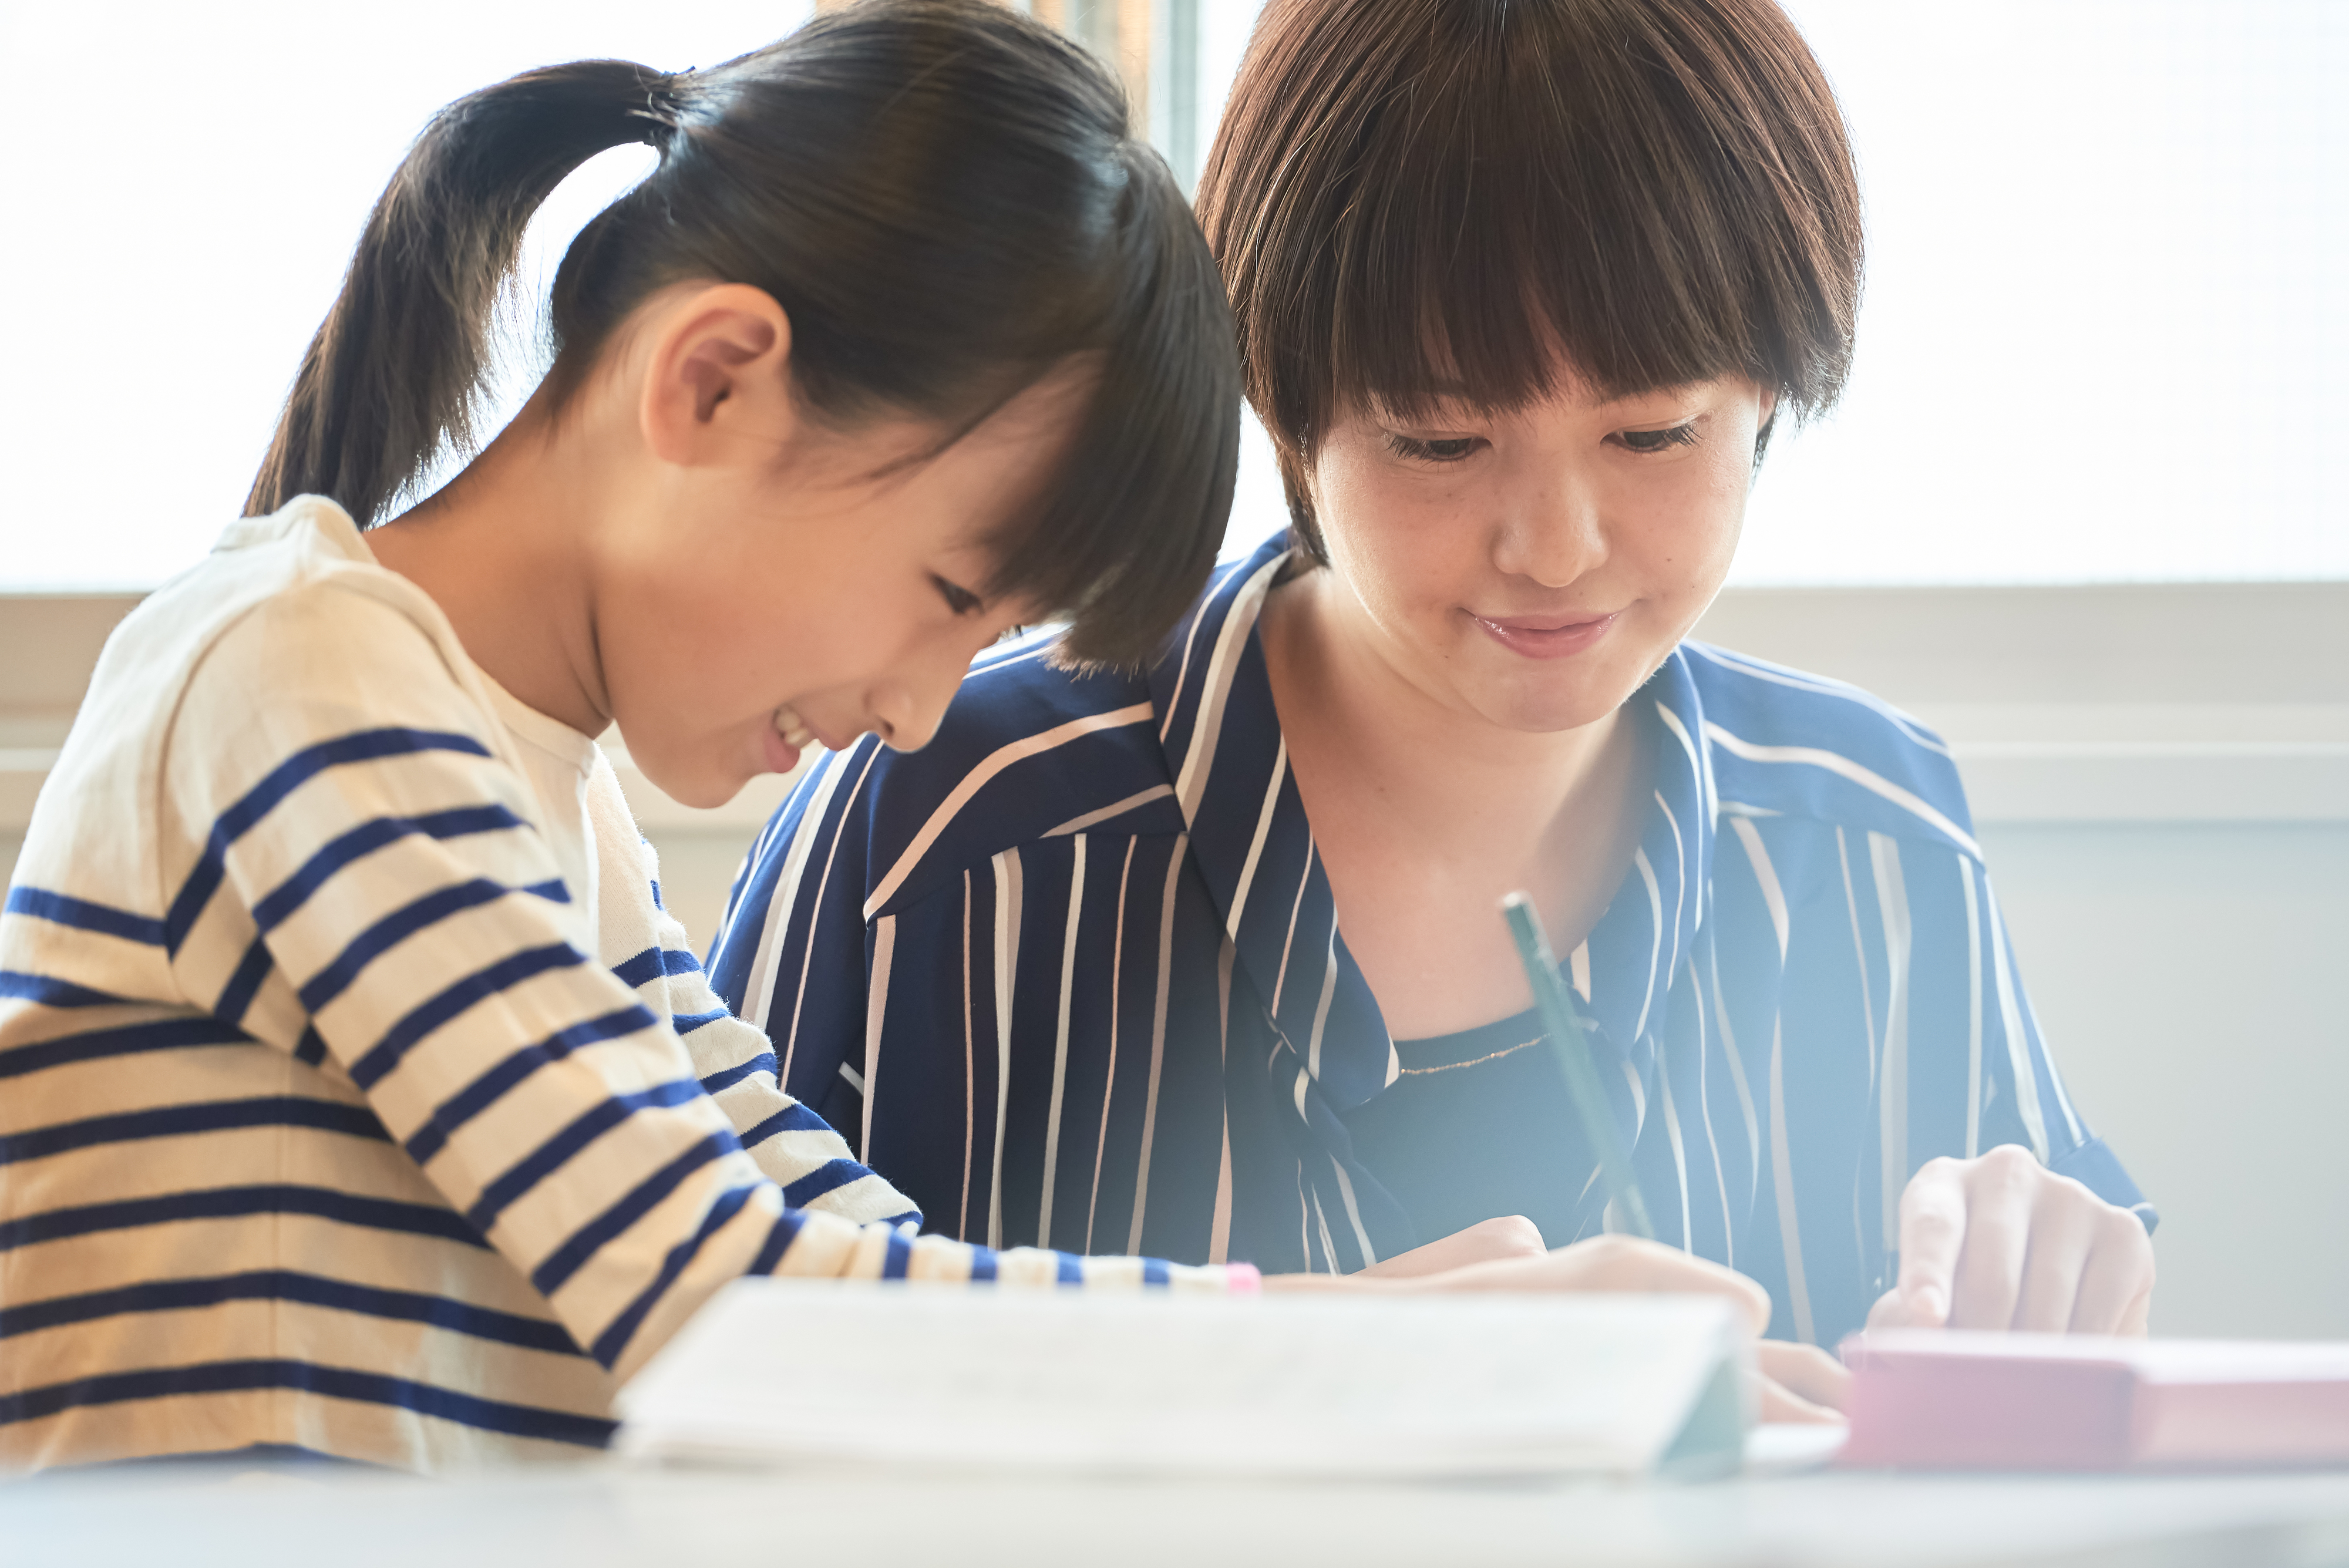
[(465, 653), (580, 735), (611, 723), (587, 554), (601, 491), (580, 432), (533, 397), (463, 474), (369, 530), (376, 561), (442, 608)]

